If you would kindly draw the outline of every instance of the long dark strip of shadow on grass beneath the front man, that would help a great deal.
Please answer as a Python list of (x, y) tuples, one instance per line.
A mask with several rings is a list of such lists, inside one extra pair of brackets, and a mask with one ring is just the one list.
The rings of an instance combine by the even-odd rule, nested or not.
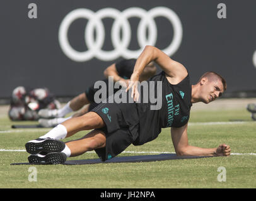
[[(177, 159), (189, 159), (189, 158), (206, 158), (212, 156), (177, 156), (175, 154), (160, 154), (160, 155), (141, 155), (141, 156), (121, 156), (115, 157), (105, 162), (100, 158), (86, 159), (86, 160), (70, 160), (66, 161), (63, 165), (88, 165), (96, 163), (139, 163), (150, 161), (165, 161), (165, 160), (177, 160)], [(32, 165), (30, 163), (11, 163), (11, 165)]]

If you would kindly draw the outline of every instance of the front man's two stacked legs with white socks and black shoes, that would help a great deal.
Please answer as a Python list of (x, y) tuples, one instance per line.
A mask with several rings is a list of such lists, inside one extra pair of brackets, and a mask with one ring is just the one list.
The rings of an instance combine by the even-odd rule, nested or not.
[[(64, 121), (62, 124), (59, 124), (52, 130), (50, 130), (44, 136), (41, 136), (40, 138), (42, 139), (35, 139), (25, 144), (26, 151), (28, 153), (33, 154), (33, 156), (30, 157), (29, 161), (31, 161), (31, 163), (38, 163), (38, 162), (43, 163), (42, 161), (44, 160), (42, 159), (43, 157), (35, 155), (37, 153), (40, 153), (40, 151), (42, 151), (43, 146), (44, 146), (44, 151), (49, 153), (49, 155), (46, 155), (47, 157), (49, 156), (48, 158), (46, 158), (48, 160), (46, 162), (47, 163), (50, 162), (54, 164), (64, 163), (64, 161), (66, 160), (66, 157), (64, 157), (65, 155), (67, 157), (78, 156), (78, 155), (82, 155), (86, 151), (103, 148), (106, 146), (105, 133), (97, 129), (97, 128), (102, 128), (103, 126), (105, 126), (105, 122), (103, 121), (102, 117), (96, 114), (96, 112), (88, 112), (83, 116), (73, 117), (71, 119), (68, 119), (67, 121)], [(63, 146), (63, 142), (55, 140), (55, 139), (64, 139), (69, 136), (72, 136), (78, 131), (90, 130), (90, 129), (94, 129), (94, 130), (86, 134), (84, 138), (67, 142), (66, 146)], [(52, 139), (48, 139), (48, 138), (52, 138)], [(57, 155), (57, 153), (55, 152), (59, 152), (59, 151), (61, 151), (61, 153)], [(59, 158), (57, 160), (59, 161), (55, 161), (55, 158), (50, 158), (50, 153), (52, 152), (54, 152), (54, 155), (52, 155), (52, 157), (58, 156)]]

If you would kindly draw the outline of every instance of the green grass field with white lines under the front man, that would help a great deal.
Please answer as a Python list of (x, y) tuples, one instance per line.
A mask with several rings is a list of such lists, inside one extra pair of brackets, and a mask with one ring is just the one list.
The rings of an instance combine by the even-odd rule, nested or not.
[[(243, 120), (236, 122), (234, 119)], [(96, 165), (10, 165), (27, 162), (25, 143), (49, 129), (11, 129), (7, 114), (0, 117), (0, 188), (255, 188), (256, 122), (245, 108), (193, 110), (190, 117), (189, 143), (215, 148), (226, 143), (233, 155), (198, 159), (155, 161), (146, 163), (109, 163)], [(228, 122), (202, 124), (200, 122)], [(15, 124), (37, 122), (15, 122)], [(69, 139), (84, 136), (86, 131)], [(8, 151), (12, 150), (12, 151)], [(170, 128), (143, 146), (129, 146), (125, 151), (174, 152)], [(238, 155), (243, 154), (243, 155)], [(249, 153), (254, 153), (249, 155)], [(119, 156), (149, 153), (121, 153)], [(118, 157), (118, 156), (117, 156)], [(68, 160), (97, 158), (85, 153)], [(37, 182), (30, 182), (29, 168), (37, 168)], [(218, 168), (226, 169), (226, 182), (218, 182)]]

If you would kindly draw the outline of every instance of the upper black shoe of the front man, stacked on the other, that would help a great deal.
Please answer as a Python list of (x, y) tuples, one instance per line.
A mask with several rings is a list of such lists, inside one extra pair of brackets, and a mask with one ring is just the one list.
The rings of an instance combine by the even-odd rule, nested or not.
[(52, 138), (38, 138), (28, 141), (25, 144), (26, 151), (32, 155), (40, 152), (52, 153), (61, 152), (65, 148), (65, 143)]

